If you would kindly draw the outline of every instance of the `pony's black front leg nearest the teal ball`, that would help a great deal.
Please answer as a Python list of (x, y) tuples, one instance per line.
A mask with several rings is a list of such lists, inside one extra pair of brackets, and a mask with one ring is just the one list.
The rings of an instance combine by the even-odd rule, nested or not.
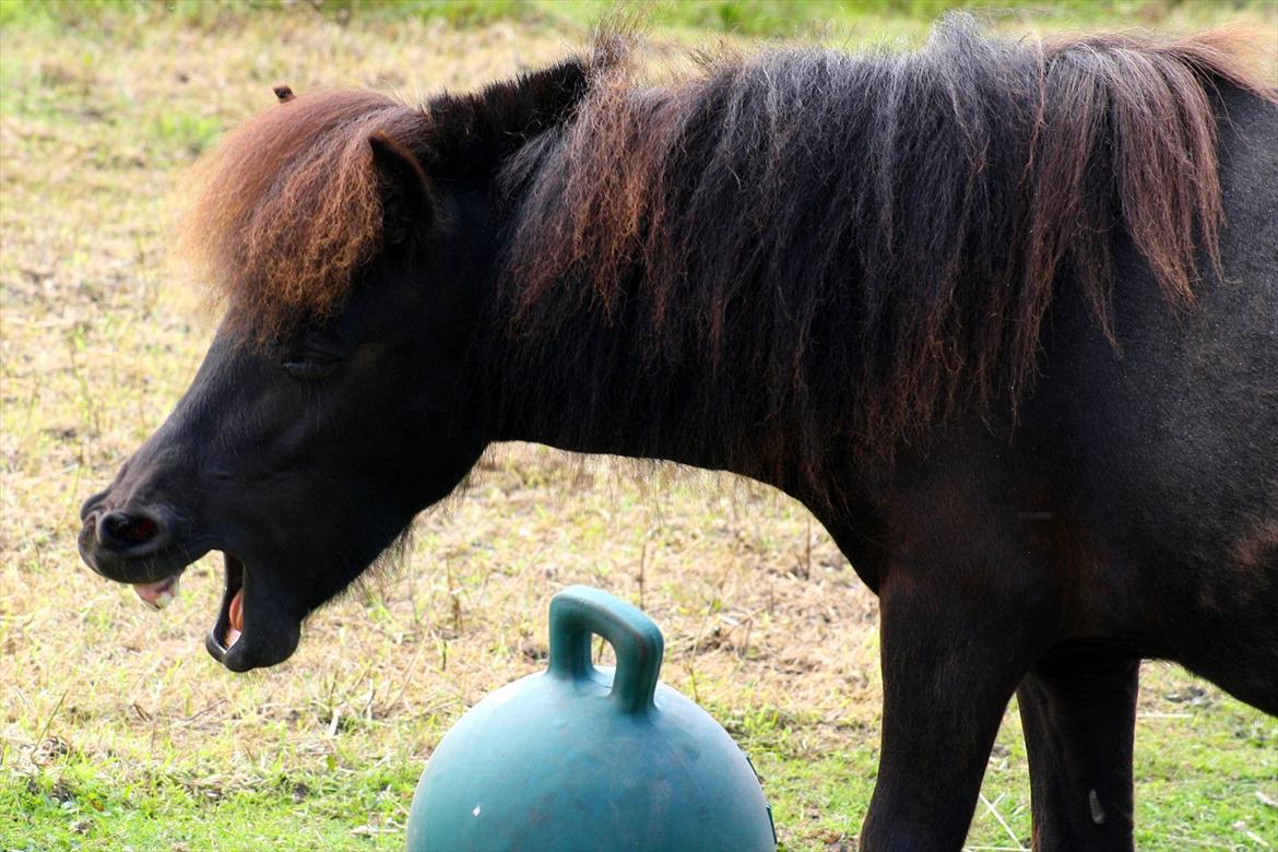
[(994, 736), (1033, 654), (989, 576), (893, 571), (881, 589), (883, 745), (860, 848), (960, 849)]

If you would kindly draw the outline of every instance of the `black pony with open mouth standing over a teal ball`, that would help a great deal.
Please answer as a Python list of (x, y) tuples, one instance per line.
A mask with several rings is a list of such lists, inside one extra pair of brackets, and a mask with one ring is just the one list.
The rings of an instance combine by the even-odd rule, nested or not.
[(496, 441), (736, 471), (882, 602), (865, 849), (957, 848), (1020, 699), (1043, 849), (1130, 848), (1139, 660), (1278, 713), (1278, 106), (1236, 34), (594, 55), (413, 109), (294, 97), (207, 164), (226, 299), (83, 508), (234, 671)]

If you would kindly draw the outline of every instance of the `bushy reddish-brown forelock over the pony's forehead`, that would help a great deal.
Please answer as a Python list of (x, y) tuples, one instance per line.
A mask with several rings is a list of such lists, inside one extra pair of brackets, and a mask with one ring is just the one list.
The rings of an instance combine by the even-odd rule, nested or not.
[(368, 138), (381, 133), (412, 149), (424, 121), (373, 92), (282, 100), (197, 166), (179, 252), (254, 336), (328, 314), (381, 244)]

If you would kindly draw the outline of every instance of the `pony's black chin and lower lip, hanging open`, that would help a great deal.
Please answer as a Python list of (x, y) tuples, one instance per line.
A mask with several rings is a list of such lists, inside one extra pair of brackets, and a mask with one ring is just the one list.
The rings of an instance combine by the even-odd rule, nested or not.
[(233, 672), (282, 663), (298, 648), (302, 622), (271, 604), (265, 589), (250, 580), (243, 561), (224, 553), (222, 562), (226, 586), (217, 621), (204, 637), (204, 648)]

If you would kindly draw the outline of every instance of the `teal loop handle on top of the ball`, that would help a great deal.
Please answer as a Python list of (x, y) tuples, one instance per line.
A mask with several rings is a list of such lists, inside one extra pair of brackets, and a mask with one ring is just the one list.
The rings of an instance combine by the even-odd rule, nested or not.
[(603, 636), (617, 654), (610, 697), (624, 713), (651, 710), (665, 649), (657, 625), (636, 607), (607, 591), (569, 586), (551, 598), (552, 677), (575, 681), (594, 672), (592, 635)]

